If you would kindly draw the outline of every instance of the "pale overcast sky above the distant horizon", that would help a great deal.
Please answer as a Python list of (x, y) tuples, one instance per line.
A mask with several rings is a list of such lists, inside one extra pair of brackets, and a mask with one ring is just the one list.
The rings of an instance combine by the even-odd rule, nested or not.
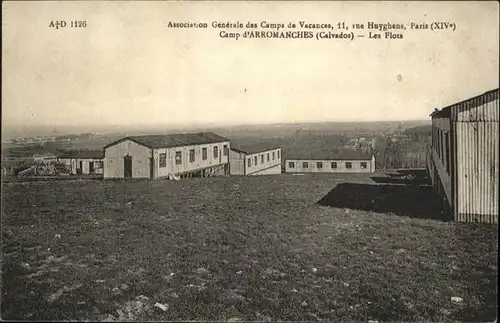
[[(498, 3), (3, 2), (2, 123), (428, 119), (498, 87)], [(86, 20), (56, 30), (51, 20)], [(409, 23), (402, 40), (221, 39), (169, 21)]]

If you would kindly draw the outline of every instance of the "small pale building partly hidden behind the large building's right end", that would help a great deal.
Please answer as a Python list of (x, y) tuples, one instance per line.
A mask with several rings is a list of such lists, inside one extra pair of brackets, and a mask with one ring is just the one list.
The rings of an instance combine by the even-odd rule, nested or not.
[(231, 144), (231, 175), (281, 174), (281, 148), (262, 143)]

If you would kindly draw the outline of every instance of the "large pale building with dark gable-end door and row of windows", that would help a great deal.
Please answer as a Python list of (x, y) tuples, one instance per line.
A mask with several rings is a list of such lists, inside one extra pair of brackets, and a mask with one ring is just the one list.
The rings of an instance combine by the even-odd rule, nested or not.
[(212, 132), (129, 136), (104, 147), (104, 178), (226, 175), (229, 148)]

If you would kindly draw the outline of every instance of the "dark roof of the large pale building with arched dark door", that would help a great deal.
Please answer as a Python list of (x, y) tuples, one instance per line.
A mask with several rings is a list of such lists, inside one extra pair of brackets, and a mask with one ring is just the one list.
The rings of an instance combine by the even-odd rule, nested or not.
[(140, 145), (149, 148), (180, 147), (228, 141), (228, 139), (213, 132), (180, 133), (166, 135), (129, 136), (114, 141), (106, 145), (104, 148), (116, 145), (117, 143), (124, 140), (132, 140)]

